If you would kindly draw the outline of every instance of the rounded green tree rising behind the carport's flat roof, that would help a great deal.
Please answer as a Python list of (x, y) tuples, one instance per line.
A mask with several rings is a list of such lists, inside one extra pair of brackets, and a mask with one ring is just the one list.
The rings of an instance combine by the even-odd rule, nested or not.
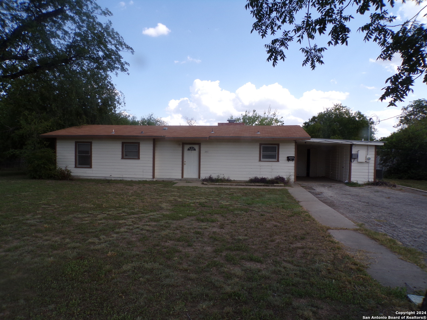
[[(368, 140), (369, 120), (360, 111), (352, 112), (350, 108), (335, 104), (326, 108), (304, 122), (302, 128), (312, 138)], [(374, 128), (371, 127), (371, 140), (374, 137)]]

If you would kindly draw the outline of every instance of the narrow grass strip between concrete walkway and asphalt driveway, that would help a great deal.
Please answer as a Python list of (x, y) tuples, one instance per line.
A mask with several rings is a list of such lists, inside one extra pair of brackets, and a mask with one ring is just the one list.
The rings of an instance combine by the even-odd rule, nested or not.
[(427, 271), (427, 265), (425, 263), (427, 261), (427, 256), (424, 252), (418, 251), (415, 248), (405, 247), (401, 242), (390, 238), (386, 233), (366, 228), (363, 223), (357, 224), (357, 226), (360, 228), (359, 231), (361, 233), (389, 248), (394, 253), (397, 253), (404, 260), (415, 263), (415, 265), (418, 265), (418, 267)]

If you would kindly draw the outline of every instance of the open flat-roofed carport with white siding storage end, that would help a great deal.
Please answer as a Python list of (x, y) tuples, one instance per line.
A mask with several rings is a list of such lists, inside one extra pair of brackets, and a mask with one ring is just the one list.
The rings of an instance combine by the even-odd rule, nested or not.
[(295, 145), (298, 177), (327, 177), (337, 181), (364, 183), (375, 180), (379, 141), (310, 139)]

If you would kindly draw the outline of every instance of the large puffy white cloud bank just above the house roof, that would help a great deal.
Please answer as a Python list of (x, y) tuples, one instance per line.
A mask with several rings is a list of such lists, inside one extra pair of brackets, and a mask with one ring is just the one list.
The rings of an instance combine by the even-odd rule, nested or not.
[(219, 87), (219, 81), (194, 80), (190, 87), (190, 96), (172, 99), (163, 118), (171, 125), (184, 123), (184, 116), (194, 118), (199, 125), (216, 125), (233, 114), (240, 116), (246, 110), (263, 113), (271, 106), (278, 110), (286, 125), (302, 125), (311, 116), (331, 107), (333, 103), (345, 100), (348, 93), (339, 91), (306, 91), (300, 98), (292, 96), (288, 89), (280, 84), (263, 85), (260, 88), (248, 82), (235, 93)]

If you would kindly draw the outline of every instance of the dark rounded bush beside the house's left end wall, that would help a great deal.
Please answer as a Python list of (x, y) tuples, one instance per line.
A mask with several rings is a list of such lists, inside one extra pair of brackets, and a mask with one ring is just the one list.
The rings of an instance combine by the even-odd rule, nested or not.
[(56, 176), (56, 154), (44, 148), (29, 152), (25, 156), (27, 175), (31, 179), (49, 179)]

